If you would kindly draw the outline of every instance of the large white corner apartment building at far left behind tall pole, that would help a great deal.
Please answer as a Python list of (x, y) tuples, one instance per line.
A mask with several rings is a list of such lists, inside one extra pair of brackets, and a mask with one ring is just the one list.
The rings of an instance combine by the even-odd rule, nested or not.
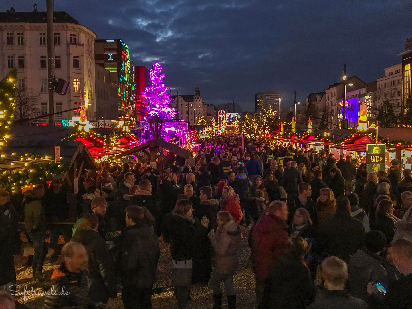
[[(54, 111), (79, 107), (83, 94), (88, 119), (96, 119), (94, 87), (94, 40), (97, 35), (66, 12), (54, 12), (54, 53), (56, 80), (69, 82), (65, 96), (54, 93)], [(42, 114), (48, 108), (47, 27), (46, 12), (0, 13), (0, 75), (17, 68), (20, 90), (40, 94), (37, 102)], [(70, 111), (55, 116), (56, 124), (80, 112)], [(48, 123), (48, 117), (39, 119)]]

